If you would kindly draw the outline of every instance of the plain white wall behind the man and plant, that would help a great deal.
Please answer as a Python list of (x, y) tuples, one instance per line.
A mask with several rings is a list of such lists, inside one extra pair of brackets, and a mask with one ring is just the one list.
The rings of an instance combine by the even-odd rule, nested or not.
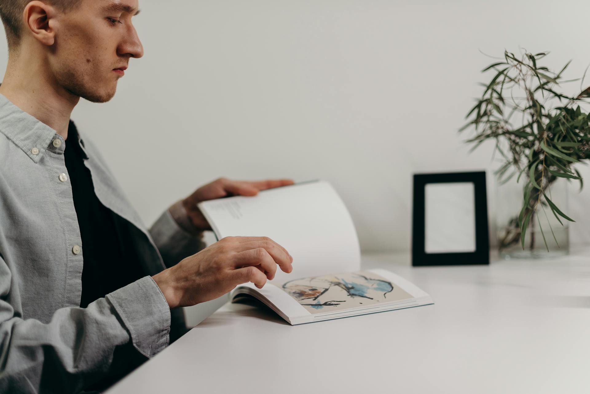
[[(572, 78), (590, 63), (587, 0), (139, 6), (145, 56), (112, 101), (82, 100), (72, 119), (143, 219), (219, 176), (322, 178), (342, 194), (364, 251), (409, 249), (412, 173), (496, 166), (491, 146), (467, 155), (457, 134), (490, 78), (478, 50), (550, 50), (549, 67), (573, 58)], [(588, 190), (573, 193), (569, 213), (581, 222), (589, 203)], [(572, 225), (571, 238), (588, 242), (590, 225)]]

